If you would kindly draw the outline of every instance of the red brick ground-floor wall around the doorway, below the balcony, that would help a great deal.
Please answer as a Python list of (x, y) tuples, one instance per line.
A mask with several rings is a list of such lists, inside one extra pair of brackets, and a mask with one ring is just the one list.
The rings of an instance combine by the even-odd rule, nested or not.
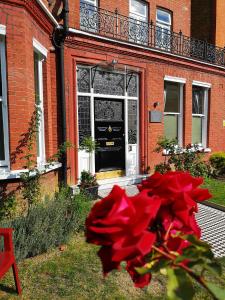
[[(159, 136), (163, 136), (164, 125), (163, 122), (148, 123), (148, 111), (153, 110), (154, 102), (159, 101), (160, 105), (157, 109), (163, 112), (165, 75), (186, 79), (184, 86), (184, 145), (191, 143), (192, 137), (192, 81), (207, 82), (212, 85), (209, 99), (208, 147), (212, 151), (225, 149), (225, 128), (223, 128), (223, 120), (225, 119), (224, 70), (163, 53), (88, 40), (83, 37), (76, 37), (74, 42), (71, 38), (67, 46), (71, 47), (67, 53), (69, 57), (67, 57), (66, 72), (66, 81), (71, 91), (67, 97), (69, 106), (76, 103), (76, 64), (94, 65), (103, 61), (112, 61), (115, 58), (118, 60), (120, 68), (122, 65), (126, 65), (139, 69), (141, 76), (140, 110), (141, 107), (144, 107), (140, 116), (140, 162), (141, 164), (144, 162), (145, 168), (150, 166), (153, 170), (154, 165), (163, 160), (161, 154), (156, 154), (153, 151)], [(67, 121), (71, 130), (70, 140), (76, 144), (76, 130), (74, 129), (72, 132), (74, 124), (77, 124), (76, 110), (74, 113), (68, 112)], [(73, 151), (71, 157), (74, 159), (77, 154), (75, 150)], [(71, 169), (74, 169), (72, 165), (70, 166)], [(71, 182), (74, 182), (77, 174), (75, 177), (72, 174), (71, 176)]]

